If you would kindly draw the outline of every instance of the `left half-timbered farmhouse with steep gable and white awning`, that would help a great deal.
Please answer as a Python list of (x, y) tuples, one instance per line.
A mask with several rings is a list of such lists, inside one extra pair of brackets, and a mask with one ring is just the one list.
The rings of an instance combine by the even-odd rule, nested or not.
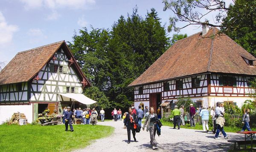
[(45, 108), (62, 114), (73, 101), (92, 104), (84, 87), (90, 82), (65, 41), (19, 52), (0, 72), (0, 123), (17, 112), (31, 122)]

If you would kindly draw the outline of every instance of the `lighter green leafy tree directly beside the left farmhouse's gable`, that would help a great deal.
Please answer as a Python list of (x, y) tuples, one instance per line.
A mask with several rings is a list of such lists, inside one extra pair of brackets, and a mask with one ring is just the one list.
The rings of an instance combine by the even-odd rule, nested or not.
[(108, 89), (108, 41), (110, 34), (105, 29), (87, 28), (74, 34), (73, 43), (68, 42), (73, 55), (79, 62), (87, 78), (100, 91)]

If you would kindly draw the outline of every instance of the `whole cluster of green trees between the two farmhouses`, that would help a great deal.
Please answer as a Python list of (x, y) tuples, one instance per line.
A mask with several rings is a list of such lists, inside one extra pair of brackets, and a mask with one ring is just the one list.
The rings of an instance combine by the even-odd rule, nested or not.
[(166, 51), (169, 38), (154, 8), (145, 18), (134, 8), (127, 19), (120, 16), (110, 31), (80, 30), (69, 46), (93, 84), (85, 94), (101, 107), (126, 110), (134, 100), (128, 84)]

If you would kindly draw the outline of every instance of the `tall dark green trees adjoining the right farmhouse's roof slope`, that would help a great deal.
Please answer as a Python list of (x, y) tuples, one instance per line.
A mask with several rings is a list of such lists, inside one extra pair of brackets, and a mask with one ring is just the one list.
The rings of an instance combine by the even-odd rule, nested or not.
[(166, 31), (152, 8), (145, 19), (137, 8), (113, 24), (110, 40), (111, 100), (128, 107), (133, 102), (133, 88), (127, 87), (169, 46)]

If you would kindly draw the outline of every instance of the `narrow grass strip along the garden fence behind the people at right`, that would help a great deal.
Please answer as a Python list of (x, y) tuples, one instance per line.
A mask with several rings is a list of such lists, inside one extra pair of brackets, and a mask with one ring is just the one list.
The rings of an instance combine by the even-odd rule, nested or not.
[[(167, 121), (161, 121), (163, 126), (170, 126), (173, 127), (173, 122), (167, 122)], [(176, 126), (177, 128), (177, 126)], [(180, 126), (180, 128), (186, 128), (186, 129), (197, 129), (203, 131), (203, 126), (201, 124), (196, 124), (195, 127), (190, 127), (190, 124), (186, 124), (185, 126)], [(212, 127), (209, 127), (209, 131), (212, 129)], [(237, 132), (240, 131), (242, 128), (238, 127), (226, 127), (224, 126), (225, 132)], [(256, 130), (256, 128), (251, 128), (252, 130)]]

